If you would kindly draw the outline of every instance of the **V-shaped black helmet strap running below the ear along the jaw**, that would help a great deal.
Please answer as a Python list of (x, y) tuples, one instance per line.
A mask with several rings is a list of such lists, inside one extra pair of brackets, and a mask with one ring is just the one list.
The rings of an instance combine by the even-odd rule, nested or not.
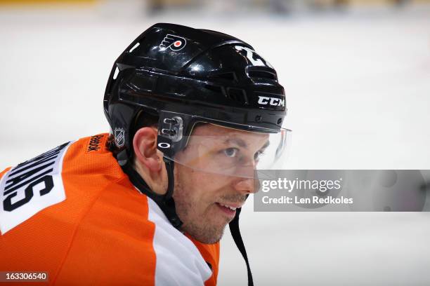
[(150, 187), (142, 179), (141, 175), (139, 175), (138, 172), (134, 170), (125, 150), (119, 152), (117, 155), (117, 161), (124, 173), (129, 176), (130, 182), (136, 186), (136, 188), (141, 191), (141, 193), (144, 193), (146, 196), (152, 198), (155, 203), (157, 203), (159, 208), (161, 208), (162, 212), (164, 212), (166, 215), (167, 219), (169, 219), (169, 222), (172, 226), (174, 226), (176, 229), (181, 229), (182, 222), (181, 219), (179, 219), (178, 214), (176, 214), (175, 201), (173, 198), (175, 185), (174, 162), (164, 158), (164, 163), (166, 163), (168, 186), (167, 193), (164, 195), (159, 195), (151, 191)]

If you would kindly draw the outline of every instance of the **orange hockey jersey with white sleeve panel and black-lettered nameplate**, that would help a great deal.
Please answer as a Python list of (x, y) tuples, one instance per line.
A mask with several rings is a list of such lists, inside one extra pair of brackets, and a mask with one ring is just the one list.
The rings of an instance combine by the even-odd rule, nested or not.
[(122, 172), (107, 136), (0, 173), (0, 271), (46, 271), (49, 285), (216, 285), (219, 243), (174, 229)]

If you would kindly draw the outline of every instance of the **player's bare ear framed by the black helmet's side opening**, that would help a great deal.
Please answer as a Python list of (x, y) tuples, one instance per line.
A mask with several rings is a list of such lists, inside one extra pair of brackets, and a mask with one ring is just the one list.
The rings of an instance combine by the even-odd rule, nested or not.
[(136, 159), (151, 172), (159, 172), (163, 160), (157, 152), (157, 129), (143, 127), (133, 137), (133, 150)]

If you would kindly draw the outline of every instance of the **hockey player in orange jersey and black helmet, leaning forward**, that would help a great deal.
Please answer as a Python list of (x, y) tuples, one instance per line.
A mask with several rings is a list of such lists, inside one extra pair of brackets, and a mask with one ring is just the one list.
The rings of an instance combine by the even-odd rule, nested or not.
[[(227, 224), (282, 157), (284, 89), (249, 44), (157, 24), (115, 62), (110, 134), (0, 173), (0, 271), (51, 285), (216, 285)], [(46, 283), (45, 283), (46, 284)]]

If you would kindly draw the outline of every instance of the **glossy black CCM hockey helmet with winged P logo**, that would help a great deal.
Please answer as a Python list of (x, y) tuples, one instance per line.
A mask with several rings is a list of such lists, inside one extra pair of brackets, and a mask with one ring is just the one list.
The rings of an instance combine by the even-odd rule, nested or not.
[(117, 151), (127, 150), (129, 158), (136, 116), (156, 113), (158, 149), (171, 160), (197, 122), (276, 133), (286, 114), (276, 71), (252, 46), (166, 23), (147, 29), (115, 61), (104, 109)]

